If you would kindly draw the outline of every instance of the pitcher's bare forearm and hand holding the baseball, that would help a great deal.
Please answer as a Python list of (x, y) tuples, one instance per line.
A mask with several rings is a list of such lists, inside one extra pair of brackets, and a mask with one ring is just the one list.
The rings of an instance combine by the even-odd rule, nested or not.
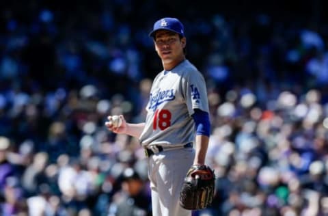
[(111, 124), (111, 116), (108, 116), (107, 119), (109, 121), (105, 122), (105, 126), (107, 127), (107, 129), (109, 129), (109, 131), (113, 131), (113, 133), (124, 133), (126, 135), (130, 135), (139, 139), (143, 128), (145, 127), (145, 123), (127, 123), (124, 119), (124, 116), (120, 115), (120, 118), (122, 119), (122, 124), (119, 127), (114, 127)]

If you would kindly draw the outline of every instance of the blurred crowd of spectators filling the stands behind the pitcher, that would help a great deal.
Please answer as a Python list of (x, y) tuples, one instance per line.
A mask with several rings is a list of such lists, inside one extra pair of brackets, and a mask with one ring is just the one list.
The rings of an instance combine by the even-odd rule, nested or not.
[(267, 13), (242, 4), (235, 14), (179, 2), (1, 3), (0, 215), (151, 215), (139, 141), (104, 123), (144, 120), (162, 70), (148, 32), (163, 16), (184, 23), (187, 58), (208, 87), (216, 192), (193, 215), (328, 215), (318, 1), (310, 17), (271, 1)]

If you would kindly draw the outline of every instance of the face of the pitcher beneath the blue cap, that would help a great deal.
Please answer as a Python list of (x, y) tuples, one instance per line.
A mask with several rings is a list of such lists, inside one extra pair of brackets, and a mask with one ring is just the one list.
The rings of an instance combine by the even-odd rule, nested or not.
[(180, 39), (178, 33), (159, 30), (156, 32), (154, 44), (163, 64), (175, 66), (184, 59), (183, 49), (186, 46), (186, 38)]

